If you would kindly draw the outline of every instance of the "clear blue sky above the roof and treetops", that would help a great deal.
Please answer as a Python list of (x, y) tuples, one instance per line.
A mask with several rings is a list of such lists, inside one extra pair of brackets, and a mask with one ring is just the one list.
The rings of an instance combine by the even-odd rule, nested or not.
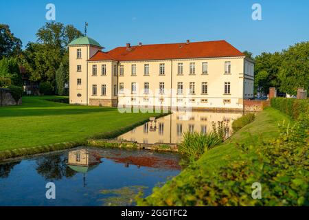
[[(10, 25), (25, 46), (47, 20), (47, 3), (56, 6), (56, 21), (73, 24), (106, 50), (151, 43), (226, 40), (241, 51), (281, 51), (309, 41), (309, 1), (287, 0), (0, 0), (0, 23)], [(262, 6), (262, 21), (253, 21), (253, 3)]]

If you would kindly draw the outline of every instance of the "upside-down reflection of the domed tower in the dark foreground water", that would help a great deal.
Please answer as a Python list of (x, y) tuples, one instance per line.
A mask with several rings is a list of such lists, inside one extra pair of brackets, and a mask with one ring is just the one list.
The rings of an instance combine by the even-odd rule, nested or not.
[(89, 151), (88, 149), (69, 151), (67, 165), (72, 170), (75, 170), (78, 173), (83, 173), (84, 186), (87, 185), (86, 173), (93, 170), (100, 163), (100, 156), (96, 155), (94, 151)]

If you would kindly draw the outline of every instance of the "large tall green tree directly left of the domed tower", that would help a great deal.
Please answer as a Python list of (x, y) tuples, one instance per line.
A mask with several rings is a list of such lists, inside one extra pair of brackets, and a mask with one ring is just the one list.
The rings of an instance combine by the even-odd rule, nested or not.
[(56, 71), (63, 65), (65, 79), (69, 73), (67, 45), (82, 33), (73, 25), (62, 23), (46, 23), (36, 33), (36, 43), (28, 43), (25, 50), (25, 67), (31, 73), (30, 80), (49, 82), (56, 87)]

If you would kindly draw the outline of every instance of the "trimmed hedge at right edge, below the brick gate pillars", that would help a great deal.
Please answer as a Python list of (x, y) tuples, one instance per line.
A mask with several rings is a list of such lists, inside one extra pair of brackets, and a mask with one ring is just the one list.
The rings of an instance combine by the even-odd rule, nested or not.
[(302, 112), (309, 114), (308, 99), (272, 98), (271, 107), (290, 115), (294, 120), (297, 120)]

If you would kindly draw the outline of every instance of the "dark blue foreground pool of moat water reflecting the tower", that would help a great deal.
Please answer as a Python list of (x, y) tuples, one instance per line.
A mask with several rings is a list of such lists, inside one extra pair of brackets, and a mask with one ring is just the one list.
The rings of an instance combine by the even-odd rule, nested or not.
[(0, 206), (134, 206), (138, 192), (146, 197), (180, 173), (179, 159), (172, 153), (78, 147), (2, 162)]

